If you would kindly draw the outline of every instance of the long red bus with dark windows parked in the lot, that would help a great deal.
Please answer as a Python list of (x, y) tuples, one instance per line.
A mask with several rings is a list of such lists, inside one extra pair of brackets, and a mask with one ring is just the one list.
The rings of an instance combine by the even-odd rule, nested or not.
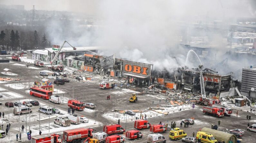
[(38, 87), (31, 87), (29, 94), (32, 96), (36, 96), (36, 97), (48, 100), (49, 97), (52, 95), (52, 91), (45, 90)]

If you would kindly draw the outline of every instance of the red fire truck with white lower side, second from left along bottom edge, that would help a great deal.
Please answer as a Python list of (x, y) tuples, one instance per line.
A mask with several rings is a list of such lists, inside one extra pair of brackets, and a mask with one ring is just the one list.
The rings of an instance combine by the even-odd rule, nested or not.
[(78, 128), (78, 129), (72, 129), (72, 130), (66, 130), (63, 131), (63, 139), (66, 142), (77, 142), (77, 143), (81, 143), (82, 140), (88, 138), (88, 137), (92, 137), (92, 134), (95, 131), (91, 128)]

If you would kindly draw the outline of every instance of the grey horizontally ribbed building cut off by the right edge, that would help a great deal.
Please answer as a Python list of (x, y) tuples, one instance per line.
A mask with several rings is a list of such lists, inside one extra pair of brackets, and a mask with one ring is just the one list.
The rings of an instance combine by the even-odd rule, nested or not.
[(256, 98), (256, 67), (243, 68), (241, 94), (249, 99)]

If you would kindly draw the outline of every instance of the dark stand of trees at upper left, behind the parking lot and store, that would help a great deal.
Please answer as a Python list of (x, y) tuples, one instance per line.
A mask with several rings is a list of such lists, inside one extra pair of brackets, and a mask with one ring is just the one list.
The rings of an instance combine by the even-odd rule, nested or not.
[(39, 33), (34, 31), (22, 31), (5, 29), (0, 33), (0, 50), (6, 51), (26, 51), (43, 49), (51, 46), (51, 42), (47, 40), (45, 33), (40, 38)]

